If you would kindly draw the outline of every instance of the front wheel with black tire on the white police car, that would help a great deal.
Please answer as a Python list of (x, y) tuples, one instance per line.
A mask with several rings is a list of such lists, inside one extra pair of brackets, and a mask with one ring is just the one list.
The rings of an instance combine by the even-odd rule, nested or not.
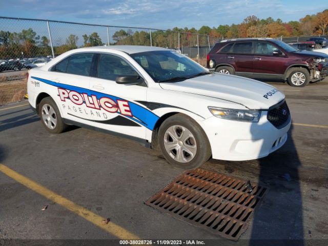
[[(183, 149), (186, 147), (191, 147), (192, 149), (194, 149), (193, 151), (195, 151), (194, 155), (190, 155), (189, 153), (191, 152), (186, 152), (186, 149), (179, 152), (182, 153), (181, 156), (184, 159), (183, 161), (186, 162), (181, 162), (177, 160), (178, 151), (176, 149), (171, 150), (170, 153), (166, 149), (165, 145), (167, 142), (169, 142), (168, 139), (171, 137), (171, 135), (168, 134), (168, 131), (170, 131), (170, 129), (175, 129), (175, 133), (177, 133), (177, 144), (175, 145), (176, 148)], [(183, 137), (182, 133), (180, 136), (178, 136), (178, 131), (180, 130), (185, 133), (188, 133), (189, 131), (189, 133), (191, 133), (192, 135), (188, 135), (189, 138), (182, 139), (180, 138)], [(172, 143), (173, 141), (174, 140), (172, 139)], [(187, 115), (180, 113), (175, 114), (163, 121), (158, 131), (158, 144), (163, 156), (167, 159), (167, 161), (172, 166), (181, 169), (198, 168), (211, 157), (210, 143), (202, 128), (197, 124), (195, 120), (188, 117)], [(179, 146), (180, 144), (182, 146)]]

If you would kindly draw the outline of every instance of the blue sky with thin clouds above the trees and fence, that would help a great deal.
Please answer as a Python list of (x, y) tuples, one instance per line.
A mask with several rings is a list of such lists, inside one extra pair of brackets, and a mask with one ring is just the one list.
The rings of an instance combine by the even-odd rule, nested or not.
[(326, 0), (0, 0), (0, 16), (172, 29), (239, 24), (249, 15), (299, 20), (328, 8)]

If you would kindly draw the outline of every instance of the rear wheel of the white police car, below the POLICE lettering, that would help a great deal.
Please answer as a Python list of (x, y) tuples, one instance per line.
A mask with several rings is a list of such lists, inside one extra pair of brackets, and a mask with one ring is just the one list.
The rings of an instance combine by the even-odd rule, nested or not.
[[(44, 106), (47, 107), (47, 105), (54, 110), (53, 114), (51, 115), (48, 114), (50, 115), (49, 117), (52, 117), (52, 119), (56, 119), (56, 124), (54, 125), (52, 124), (52, 122), (50, 122), (51, 125), (50, 127), (46, 124), (46, 120), (43, 117), (43, 115), (46, 115), (45, 109), (43, 107)], [(48, 112), (51, 112), (49, 109), (50, 108), (48, 108)], [(56, 103), (51, 97), (45, 97), (40, 101), (40, 104), (38, 106), (38, 114), (41, 118), (42, 125), (47, 129), (48, 132), (58, 134), (66, 131), (68, 126), (64, 123), (63, 119), (61, 118)], [(47, 122), (49, 122), (49, 120)]]

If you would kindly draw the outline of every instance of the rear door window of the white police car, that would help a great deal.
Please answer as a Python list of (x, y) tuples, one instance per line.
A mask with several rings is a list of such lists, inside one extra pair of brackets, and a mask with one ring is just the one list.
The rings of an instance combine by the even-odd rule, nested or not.
[(67, 73), (89, 76), (92, 64), (92, 53), (81, 53), (70, 56), (67, 64)]

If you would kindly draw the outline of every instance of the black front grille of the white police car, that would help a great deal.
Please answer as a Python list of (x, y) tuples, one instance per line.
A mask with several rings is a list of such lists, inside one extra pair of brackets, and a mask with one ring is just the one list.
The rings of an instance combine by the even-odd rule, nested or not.
[(283, 128), (290, 118), (290, 112), (286, 102), (283, 101), (283, 103), (271, 107), (268, 111), (267, 118), (276, 128)]

